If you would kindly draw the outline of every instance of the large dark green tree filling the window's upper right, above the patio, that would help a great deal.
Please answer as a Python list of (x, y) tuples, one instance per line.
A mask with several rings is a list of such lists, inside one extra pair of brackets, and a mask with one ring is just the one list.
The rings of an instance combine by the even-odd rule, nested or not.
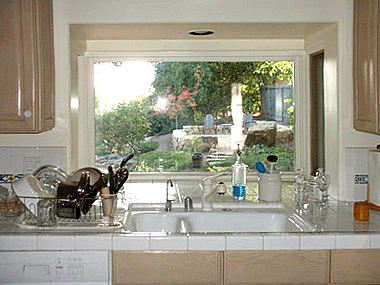
[[(227, 116), (231, 109), (232, 83), (243, 84), (243, 111), (259, 112), (261, 88), (277, 81), (293, 82), (293, 62), (160, 62), (155, 65), (155, 73), (155, 96), (174, 96), (176, 114), (187, 110), (189, 116), (193, 114), (200, 121), (206, 114)], [(196, 106), (196, 112), (178, 108), (185, 92), (186, 98), (194, 100), (191, 104)]]

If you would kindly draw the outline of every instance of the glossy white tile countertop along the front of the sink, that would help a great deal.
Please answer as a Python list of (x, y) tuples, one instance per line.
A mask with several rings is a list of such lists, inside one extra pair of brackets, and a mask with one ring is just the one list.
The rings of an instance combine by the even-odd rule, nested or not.
[[(184, 191), (182, 194), (187, 196), (189, 193)], [(247, 200), (246, 203), (257, 203), (254, 199)], [(291, 203), (286, 191), (283, 202)], [(299, 214), (305, 219), (310, 218), (310, 215)], [(123, 232), (121, 228), (61, 231), (24, 228), (2, 217), (0, 251), (380, 249), (379, 212), (371, 211), (370, 221), (358, 222), (353, 218), (353, 203), (330, 201), (328, 207), (319, 211), (318, 215), (318, 232), (227, 234), (130, 234)]]

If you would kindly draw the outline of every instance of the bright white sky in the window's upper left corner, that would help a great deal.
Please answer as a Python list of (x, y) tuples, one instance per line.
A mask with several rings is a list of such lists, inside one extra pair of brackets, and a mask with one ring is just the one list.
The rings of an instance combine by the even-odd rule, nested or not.
[(95, 64), (94, 87), (100, 110), (109, 111), (119, 102), (150, 95), (154, 91), (153, 80), (154, 68), (149, 62), (123, 62), (121, 66), (111, 62)]

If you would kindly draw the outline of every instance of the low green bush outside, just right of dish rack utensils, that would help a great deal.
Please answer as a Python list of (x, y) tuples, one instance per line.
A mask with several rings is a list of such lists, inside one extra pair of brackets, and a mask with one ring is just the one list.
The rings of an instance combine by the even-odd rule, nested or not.
[(157, 171), (160, 159), (162, 159), (163, 171), (181, 171), (191, 167), (192, 155), (187, 151), (170, 150), (142, 153), (139, 157), (139, 164), (134, 169), (140, 172)]

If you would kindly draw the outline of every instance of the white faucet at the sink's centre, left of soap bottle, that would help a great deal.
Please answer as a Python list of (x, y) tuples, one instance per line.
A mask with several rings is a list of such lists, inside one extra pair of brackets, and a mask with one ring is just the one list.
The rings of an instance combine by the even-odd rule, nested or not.
[(224, 182), (220, 181), (215, 185), (215, 180), (222, 175), (227, 174), (226, 172), (206, 177), (200, 183), (200, 187), (202, 189), (202, 210), (203, 211), (211, 211), (212, 203), (214, 201), (215, 196), (224, 195), (227, 193), (227, 187)]

